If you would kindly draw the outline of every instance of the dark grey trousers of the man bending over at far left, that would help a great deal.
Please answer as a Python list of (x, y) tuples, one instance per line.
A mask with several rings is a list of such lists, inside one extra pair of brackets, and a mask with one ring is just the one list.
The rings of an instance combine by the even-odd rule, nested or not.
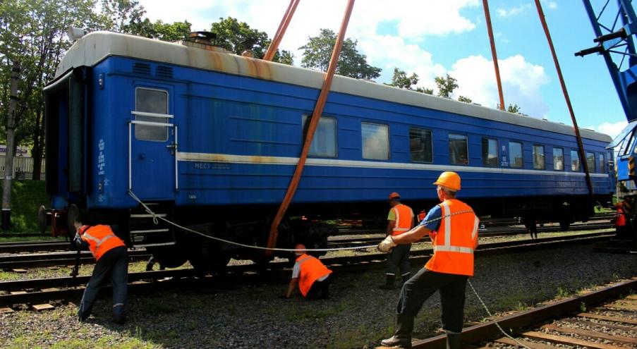
[(126, 246), (115, 247), (102, 255), (95, 264), (93, 274), (86, 285), (78, 317), (84, 320), (91, 314), (97, 292), (109, 277), (113, 286), (113, 318), (115, 322), (126, 319), (126, 293), (128, 292), (128, 252)]

